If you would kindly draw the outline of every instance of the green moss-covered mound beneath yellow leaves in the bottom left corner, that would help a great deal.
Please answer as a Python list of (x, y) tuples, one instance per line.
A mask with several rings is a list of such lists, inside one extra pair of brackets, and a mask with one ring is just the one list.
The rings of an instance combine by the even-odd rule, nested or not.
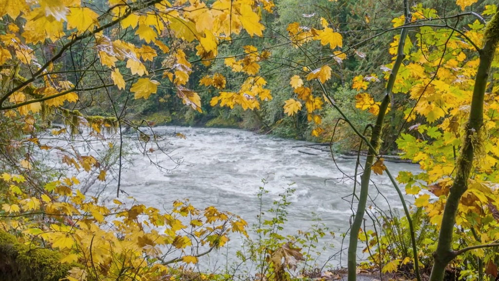
[(57, 281), (74, 264), (60, 263), (62, 255), (50, 249), (29, 248), (14, 235), (0, 231), (0, 275), (4, 281)]

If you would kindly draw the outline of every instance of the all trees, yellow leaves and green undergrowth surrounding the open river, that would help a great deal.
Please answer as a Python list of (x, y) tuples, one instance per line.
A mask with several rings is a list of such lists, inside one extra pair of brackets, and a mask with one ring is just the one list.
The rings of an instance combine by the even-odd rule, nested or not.
[[(176, 121), (366, 150), (348, 175), (349, 281), (359, 268), (497, 280), (497, 4), (0, 0), (1, 279), (335, 277), (314, 262), (328, 225), (281, 234), (292, 189), (253, 227), (188, 200), (160, 210), (123, 198), (127, 139), (168, 169), (155, 153), (186, 136), (154, 125)], [(387, 151), (422, 172), (392, 175)], [(368, 205), (370, 179), (383, 173), (400, 214)], [(90, 194), (96, 181), (116, 198)], [(235, 264), (196, 270), (235, 234), (244, 241)]]

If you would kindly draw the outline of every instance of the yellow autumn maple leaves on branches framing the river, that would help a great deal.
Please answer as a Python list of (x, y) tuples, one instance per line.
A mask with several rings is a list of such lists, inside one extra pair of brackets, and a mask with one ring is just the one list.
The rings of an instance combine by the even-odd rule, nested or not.
[[(352, 106), (357, 112), (367, 111), (373, 120), (385, 113), (403, 116), (395, 144), (401, 157), (419, 163), (422, 172), (403, 171), (397, 180), (404, 184), (406, 194), (414, 195), (414, 205), (426, 211), (435, 231), (445, 222), (450, 187), (463, 172), (458, 164), (464, 157), (461, 146), (469, 140), (464, 136), (472, 138), (475, 157), (465, 165), (470, 178), (459, 198), (457, 227), (451, 237), (453, 249), (466, 249), (466, 256), (452, 260), (464, 268), (462, 277), (480, 279), (484, 274), (478, 276), (473, 270), (484, 269), (484, 264), (493, 269), (498, 256), (492, 246), (483, 246), (499, 240), (499, 77), (493, 73), (499, 67), (497, 55), (490, 57), (493, 70), (487, 73), (491, 75), (484, 86), (483, 128), (478, 133), (466, 130), (474, 110), (470, 104), (483, 59), (482, 44), (499, 28), (490, 23), (498, 17), (496, 5), (485, 5), (481, 14), (466, 11), (476, 2), (457, 0), (463, 13), (452, 16), (439, 15), (435, 8), (420, 3), (407, 7), (410, 16), (393, 18), (393, 25), (382, 33), (403, 28), (416, 32), (403, 45), (400, 35), (395, 35), (388, 46), (392, 62), (381, 65), (378, 74), (355, 75), (351, 88), (356, 91)], [(71, 281), (170, 279), (170, 264), (196, 264), (201, 256), (224, 246), (230, 233), (247, 236), (244, 219), (213, 206), (198, 209), (183, 200), (160, 211), (133, 197), (103, 202), (86, 191), (96, 180), (110, 180), (117, 165), (120, 195), (126, 127), (136, 129), (145, 155), (162, 150), (158, 142), (165, 136), (144, 129), (154, 124), (130, 116), (127, 106), (133, 100), (148, 100), (168, 88), (192, 112), (203, 112), (208, 101), (203, 103), (195, 89), (199, 84), (210, 91), (212, 107), (256, 111), (272, 101), (266, 73), (262, 73), (264, 65), (276, 63), (272, 47), (244, 43), (241, 53), (225, 57), (219, 51), (220, 46), (238, 43), (243, 36), (251, 42), (264, 37), (271, 28), (262, 18), (275, 9), (271, 0), (0, 0), (1, 233), (14, 234), (15, 244), (22, 244), (23, 250), (26, 246), (57, 251), (61, 256), (57, 262), (71, 268), (58, 277)], [(313, 15), (303, 14), (309, 16)], [(461, 17), (474, 19), (457, 27)], [(367, 13), (364, 19), (369, 23)], [(457, 20), (455, 26), (448, 23), (451, 19)], [(323, 124), (326, 108), (340, 111), (337, 122), (353, 127), (328, 88), (335, 77), (344, 83), (344, 65), (366, 59), (369, 54), (357, 48), (379, 35), (347, 46), (348, 33), (329, 21), (320, 17), (310, 26), (291, 22), (285, 30), (272, 33), (295, 50), (315, 43), (328, 52), (326, 58), (307, 57), (308, 62), (291, 60), (279, 65), (286, 66), (290, 74), (289, 83), (286, 78), (289, 95), (279, 109), (294, 120), (299, 114), (306, 116), (314, 137), (328, 129)], [(497, 53), (497, 45), (493, 47)], [(306, 51), (303, 54), (308, 56)], [(397, 73), (391, 73), (397, 56), (402, 63), (395, 67)], [(196, 65), (209, 66), (218, 59), (239, 75), (237, 86), (219, 71), (204, 73), (193, 85)], [(397, 76), (390, 92), (380, 98), (380, 87), (375, 85), (392, 75)], [(387, 104), (390, 98), (403, 102)], [(95, 104), (102, 105), (101, 112), (111, 113), (96, 115), (87, 108)], [(383, 121), (379, 129), (387, 126)], [(63, 126), (54, 127), (53, 122)], [(353, 127), (360, 143), (367, 142), (368, 136), (362, 129)], [(98, 141), (107, 154), (79, 149), (74, 144), (80, 141), (78, 134), (88, 135), (82, 142)], [(108, 141), (109, 134), (118, 135), (119, 140)], [(376, 136), (370, 143), (380, 142)], [(369, 170), (367, 182), (371, 170), (376, 175), (389, 172), (378, 146), (368, 148), (376, 159), (364, 167)], [(57, 164), (45, 169), (47, 157), (53, 155)], [(83, 180), (86, 184), (81, 184)], [(383, 240), (372, 230), (368, 239), (368, 231), (351, 234), (371, 246), (378, 244), (370, 258), (383, 265), (383, 271), (418, 260), (414, 254), (389, 260), (389, 247), (379, 245)], [(285, 270), (296, 269), (304, 258), (301, 249), (289, 241), (276, 239), (272, 246), (256, 250), (265, 256), (261, 260), (267, 268), (272, 268), (260, 280), (288, 278)], [(428, 240), (422, 255), (437, 247), (437, 241)], [(479, 260), (477, 265), (468, 262), (472, 259)]]

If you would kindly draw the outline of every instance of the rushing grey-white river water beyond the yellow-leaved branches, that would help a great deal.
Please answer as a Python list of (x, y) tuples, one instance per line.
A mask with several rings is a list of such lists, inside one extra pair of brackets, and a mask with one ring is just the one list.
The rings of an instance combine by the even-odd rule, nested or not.
[[(334, 238), (326, 236), (321, 241), (332, 243), (334, 248), (328, 248), (319, 262), (340, 249), (340, 234), (348, 230), (352, 215), (347, 201), (351, 197), (342, 197), (351, 194), (353, 180), (335, 166), (330, 153), (297, 147), (311, 144), (309, 142), (238, 129), (170, 126), (155, 129), (181, 132), (186, 139), (172, 139), (173, 152), (169, 156), (156, 153), (154, 157), (165, 164), (171, 163), (169, 157), (182, 157), (184, 162), (171, 173), (165, 173), (141, 153), (133, 155), (133, 166), (122, 175), (121, 188), (140, 203), (168, 208), (176, 199), (189, 198), (196, 207), (214, 205), (242, 216), (251, 225), (256, 222), (259, 212), (256, 194), (262, 186), (262, 178), (267, 179), (264, 187), (269, 191), (264, 195), (264, 210), (272, 206), (272, 200), (279, 198), (278, 194), (288, 184), (294, 183), (290, 187), (296, 191), (290, 197), (292, 203), (287, 208), (288, 221), (283, 234), (306, 230), (313, 223), (312, 212), (315, 212), (336, 233)], [(338, 157), (336, 163), (344, 173), (354, 174), (355, 160)], [(385, 163), (394, 175), (400, 170), (419, 171), (418, 165), (414, 164)], [(392, 208), (401, 205), (386, 174), (373, 174), (372, 180), (384, 195), (379, 195), (378, 190), (371, 187), (371, 198), (379, 208), (387, 209), (388, 204)], [(109, 198), (114, 196), (114, 192), (110, 186), (102, 195)], [(234, 248), (237, 248), (237, 242), (234, 243)], [(338, 263), (339, 258), (335, 258), (331, 265), (337, 266)]]

